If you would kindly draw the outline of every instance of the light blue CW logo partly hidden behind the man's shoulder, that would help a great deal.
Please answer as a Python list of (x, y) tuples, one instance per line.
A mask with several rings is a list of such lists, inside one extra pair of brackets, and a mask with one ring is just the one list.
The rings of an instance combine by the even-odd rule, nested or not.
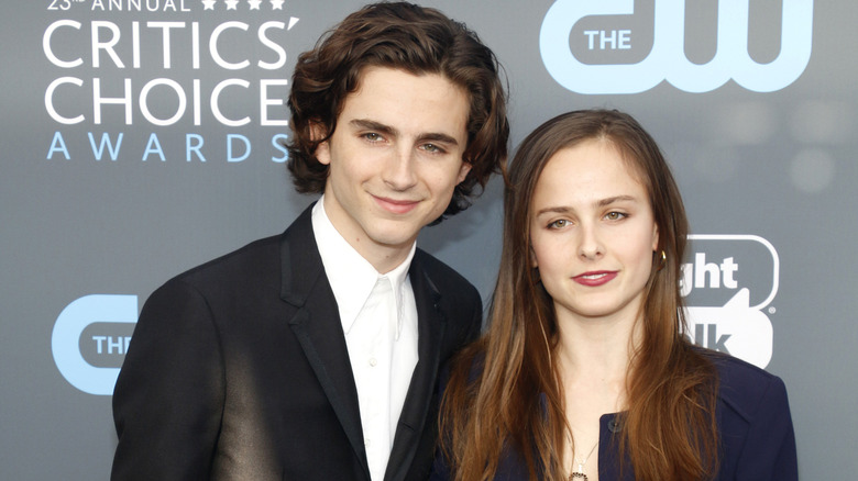
[(91, 331), (86, 336), (85, 331), (96, 326), (110, 332), (116, 331), (117, 326), (129, 326), (136, 322), (136, 295), (91, 294), (73, 301), (59, 313), (51, 336), (51, 350), (59, 373), (72, 385), (88, 394), (112, 394), (119, 367), (94, 366), (85, 357), (81, 346), (85, 351), (94, 351), (96, 356), (124, 355), (130, 336), (91, 335)]

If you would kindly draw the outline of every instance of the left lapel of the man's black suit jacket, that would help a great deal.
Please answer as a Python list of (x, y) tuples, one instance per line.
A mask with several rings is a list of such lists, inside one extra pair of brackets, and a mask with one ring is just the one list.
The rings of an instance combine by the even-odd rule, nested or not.
[(358, 389), (337, 300), (312, 234), (310, 213), (311, 206), (283, 235), (280, 298), (297, 310), (288, 320), (289, 327), (298, 338), (369, 480)]

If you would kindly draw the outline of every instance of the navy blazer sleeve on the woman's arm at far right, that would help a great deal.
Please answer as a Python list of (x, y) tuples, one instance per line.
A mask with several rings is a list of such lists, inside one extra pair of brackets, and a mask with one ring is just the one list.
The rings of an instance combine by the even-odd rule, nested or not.
[(737, 481), (798, 481), (795, 433), (787, 399), (787, 388), (772, 377), (757, 413), (748, 426), (745, 447), (738, 459)]

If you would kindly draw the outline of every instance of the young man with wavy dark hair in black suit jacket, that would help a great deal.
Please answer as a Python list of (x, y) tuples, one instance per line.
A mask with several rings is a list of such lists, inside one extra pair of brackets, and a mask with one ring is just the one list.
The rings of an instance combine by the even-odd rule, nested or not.
[(113, 395), (114, 480), (428, 474), (436, 378), (482, 303), (415, 242), (505, 160), (496, 59), (436, 10), (380, 3), (293, 80), (289, 169), (321, 200), (148, 299)]

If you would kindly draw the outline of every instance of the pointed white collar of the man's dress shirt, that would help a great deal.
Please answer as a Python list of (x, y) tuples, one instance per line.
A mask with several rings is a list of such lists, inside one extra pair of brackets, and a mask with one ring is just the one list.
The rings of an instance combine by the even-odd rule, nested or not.
[(312, 232), (321, 255), (322, 266), (324, 266), (324, 273), (328, 276), (333, 297), (337, 299), (343, 332), (349, 334), (378, 279), (387, 278), (391, 280), (398, 313), (396, 326), (396, 337), (398, 338), (403, 323), (404, 290), (410, 287), (408, 269), (411, 266), (417, 243), (411, 244), (408, 256), (400, 265), (387, 273), (378, 273), (373, 265), (358, 254), (358, 250), (340, 235), (324, 212), (323, 204), (324, 195), (322, 194), (312, 206)]

